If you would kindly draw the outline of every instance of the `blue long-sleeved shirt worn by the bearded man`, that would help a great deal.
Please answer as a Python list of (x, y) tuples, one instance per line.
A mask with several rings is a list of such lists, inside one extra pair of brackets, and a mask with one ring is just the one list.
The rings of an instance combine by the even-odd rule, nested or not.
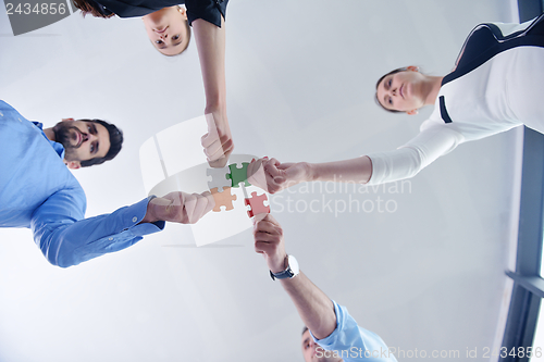
[(148, 199), (85, 219), (85, 192), (63, 162), (62, 145), (1, 100), (0, 147), (0, 227), (32, 228), (53, 265), (77, 265), (125, 249), (164, 227), (163, 222), (137, 225)]

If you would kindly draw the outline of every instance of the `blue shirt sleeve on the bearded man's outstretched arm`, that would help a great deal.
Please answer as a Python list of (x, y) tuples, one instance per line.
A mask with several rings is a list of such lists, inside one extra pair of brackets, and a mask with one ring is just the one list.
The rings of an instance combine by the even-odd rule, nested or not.
[(111, 214), (84, 219), (83, 189), (62, 189), (51, 195), (33, 214), (34, 240), (47, 260), (61, 267), (128, 248), (144, 235), (164, 228), (164, 222), (138, 223), (149, 200), (121, 208)]

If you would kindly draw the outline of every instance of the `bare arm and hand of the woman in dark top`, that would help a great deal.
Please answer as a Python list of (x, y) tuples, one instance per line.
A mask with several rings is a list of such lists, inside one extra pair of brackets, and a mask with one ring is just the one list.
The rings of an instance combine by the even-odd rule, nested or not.
[(193, 29), (206, 92), (208, 134), (202, 137), (202, 147), (210, 166), (222, 167), (234, 149), (226, 117), (224, 18), (221, 17), (221, 27), (197, 18)]

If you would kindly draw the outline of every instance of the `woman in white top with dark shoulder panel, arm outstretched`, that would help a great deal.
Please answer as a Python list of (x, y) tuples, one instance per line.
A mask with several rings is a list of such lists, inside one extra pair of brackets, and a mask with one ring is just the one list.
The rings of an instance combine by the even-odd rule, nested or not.
[(394, 151), (339, 162), (260, 161), (267, 176), (261, 186), (276, 192), (301, 182), (338, 180), (339, 175), (343, 182), (394, 182), (415, 176), (466, 141), (522, 124), (544, 133), (543, 61), (544, 15), (524, 24), (481, 24), (448, 75), (425, 75), (408, 66), (378, 82), (376, 100), (387, 111), (416, 114), (435, 104), (413, 139)]

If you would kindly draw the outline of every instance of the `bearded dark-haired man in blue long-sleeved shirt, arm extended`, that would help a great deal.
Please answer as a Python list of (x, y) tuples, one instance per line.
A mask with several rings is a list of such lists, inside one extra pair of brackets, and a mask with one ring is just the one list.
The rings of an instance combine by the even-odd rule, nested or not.
[(164, 221), (195, 223), (214, 207), (209, 192), (171, 192), (85, 219), (85, 192), (67, 167), (111, 160), (122, 139), (115, 126), (96, 120), (41, 129), (0, 101), (0, 227), (32, 228), (47, 260), (67, 267), (127, 248)]

